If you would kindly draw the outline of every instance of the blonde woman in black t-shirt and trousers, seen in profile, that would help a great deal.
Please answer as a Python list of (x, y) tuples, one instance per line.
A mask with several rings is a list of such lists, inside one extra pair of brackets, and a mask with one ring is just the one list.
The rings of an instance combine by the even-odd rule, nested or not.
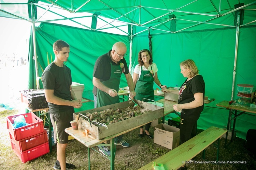
[(196, 136), (197, 120), (203, 111), (205, 84), (193, 60), (181, 62), (180, 67), (181, 73), (187, 78), (181, 88), (162, 89), (162, 91), (179, 95), (178, 104), (174, 104), (173, 109), (181, 113), (180, 143), (184, 143)]

